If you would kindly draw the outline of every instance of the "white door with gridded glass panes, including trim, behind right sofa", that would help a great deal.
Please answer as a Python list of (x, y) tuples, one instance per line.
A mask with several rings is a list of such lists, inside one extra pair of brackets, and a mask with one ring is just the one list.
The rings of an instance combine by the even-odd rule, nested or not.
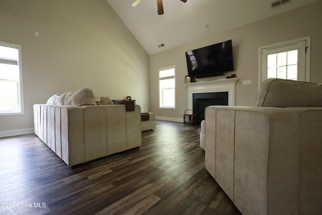
[(309, 81), (310, 38), (260, 47), (259, 86), (269, 78)]

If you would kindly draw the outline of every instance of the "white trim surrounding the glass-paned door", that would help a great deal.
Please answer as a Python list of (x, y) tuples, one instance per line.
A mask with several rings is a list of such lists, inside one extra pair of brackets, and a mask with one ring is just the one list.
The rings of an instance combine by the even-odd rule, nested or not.
[(302, 37), (299, 39), (295, 40), (290, 40), (290, 41), (285, 41), (285, 42), (280, 42), (272, 45), (267, 45), (267, 46), (262, 46), (258, 48), (258, 90), (261, 87), (262, 83), (262, 49), (267, 49), (267, 48), (274, 48), (274, 47), (279, 47), (283, 45), (287, 45), (290, 43), (297, 43), (299, 41), (306, 41), (306, 54), (305, 54), (305, 82), (310, 81), (310, 47), (311, 47), (311, 37)]

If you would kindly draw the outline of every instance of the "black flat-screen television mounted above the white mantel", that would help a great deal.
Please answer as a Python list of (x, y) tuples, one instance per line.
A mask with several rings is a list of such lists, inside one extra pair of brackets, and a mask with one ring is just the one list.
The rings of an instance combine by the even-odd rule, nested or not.
[(189, 77), (222, 76), (233, 71), (231, 40), (187, 51), (186, 59)]

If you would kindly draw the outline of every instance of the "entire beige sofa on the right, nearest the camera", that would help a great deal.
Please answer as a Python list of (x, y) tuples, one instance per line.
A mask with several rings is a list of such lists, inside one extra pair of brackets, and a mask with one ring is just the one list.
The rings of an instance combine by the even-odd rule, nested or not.
[(207, 107), (205, 166), (245, 215), (321, 214), (322, 86), (268, 79), (254, 107)]

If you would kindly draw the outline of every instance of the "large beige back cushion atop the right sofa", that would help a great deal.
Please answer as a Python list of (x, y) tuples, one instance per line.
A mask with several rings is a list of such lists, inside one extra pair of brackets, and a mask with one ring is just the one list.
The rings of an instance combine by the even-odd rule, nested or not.
[(262, 82), (255, 107), (320, 107), (322, 86), (309, 82), (267, 79)]

